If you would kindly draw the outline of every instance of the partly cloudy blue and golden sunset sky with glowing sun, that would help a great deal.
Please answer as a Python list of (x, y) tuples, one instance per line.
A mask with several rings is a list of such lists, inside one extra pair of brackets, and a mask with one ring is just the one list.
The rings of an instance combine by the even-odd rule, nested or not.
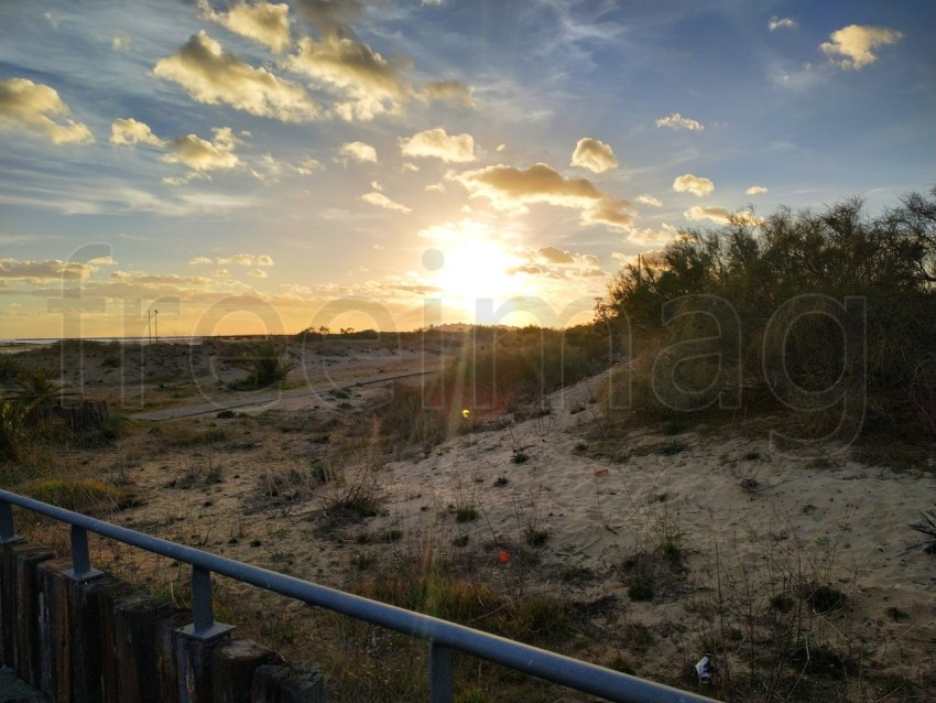
[(679, 230), (933, 188), (934, 29), (929, 0), (3, 0), (0, 338), (585, 322)]

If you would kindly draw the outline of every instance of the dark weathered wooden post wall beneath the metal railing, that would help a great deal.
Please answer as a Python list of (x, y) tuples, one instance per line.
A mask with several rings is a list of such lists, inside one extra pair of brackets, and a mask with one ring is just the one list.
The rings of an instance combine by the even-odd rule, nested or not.
[(53, 703), (322, 703), (317, 664), (178, 632), (192, 614), (104, 574), (76, 583), (42, 547), (0, 545), (0, 664)]

